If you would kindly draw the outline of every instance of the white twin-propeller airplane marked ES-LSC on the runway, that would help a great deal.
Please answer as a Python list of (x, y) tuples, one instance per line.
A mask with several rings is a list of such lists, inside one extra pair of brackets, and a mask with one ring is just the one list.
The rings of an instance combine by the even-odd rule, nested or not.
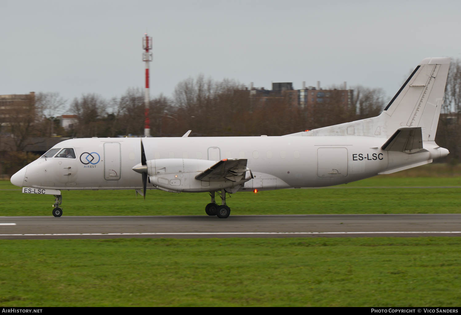
[[(280, 137), (69, 139), (14, 174), (26, 194), (61, 189), (209, 192), (208, 215), (227, 218), (226, 193), (350, 183), (449, 154), (434, 139), (449, 58), (426, 58), (377, 117)], [(221, 204), (215, 202), (215, 193)]]

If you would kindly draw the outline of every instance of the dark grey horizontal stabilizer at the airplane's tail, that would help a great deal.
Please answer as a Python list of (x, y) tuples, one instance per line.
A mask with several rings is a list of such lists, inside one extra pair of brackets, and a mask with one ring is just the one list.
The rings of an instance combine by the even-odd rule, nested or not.
[(424, 152), (421, 127), (400, 127), (381, 147), (384, 151), (408, 154)]

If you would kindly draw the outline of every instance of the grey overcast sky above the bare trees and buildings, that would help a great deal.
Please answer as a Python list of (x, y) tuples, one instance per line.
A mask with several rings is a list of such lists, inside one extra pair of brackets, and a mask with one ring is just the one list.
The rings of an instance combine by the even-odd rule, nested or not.
[(459, 0), (0, 0), (0, 94), (151, 97), (202, 73), (271, 88), (382, 87), (392, 97), (425, 57), (461, 57)]

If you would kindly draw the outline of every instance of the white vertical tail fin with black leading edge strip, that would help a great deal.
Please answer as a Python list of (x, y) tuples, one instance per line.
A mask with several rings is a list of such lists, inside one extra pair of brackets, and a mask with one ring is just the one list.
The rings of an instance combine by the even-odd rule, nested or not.
[(287, 136), (388, 139), (400, 127), (421, 127), (422, 141), (434, 141), (449, 66), (449, 57), (423, 59), (379, 116)]

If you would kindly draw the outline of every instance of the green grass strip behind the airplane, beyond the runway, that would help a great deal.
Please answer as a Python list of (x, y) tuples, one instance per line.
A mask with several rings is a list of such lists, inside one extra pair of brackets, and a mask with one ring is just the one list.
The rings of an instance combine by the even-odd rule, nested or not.
[[(227, 198), (231, 215), (459, 213), (461, 188), (399, 187), (461, 186), (461, 177), (375, 177), (324, 189), (283, 189), (241, 192)], [(383, 187), (365, 189), (361, 187)], [(395, 187), (395, 188), (385, 188)], [(15, 189), (0, 181), (0, 189)], [(207, 193), (173, 194), (148, 190), (146, 200), (134, 190), (62, 191), (64, 215), (203, 215)], [(52, 195), (0, 191), (0, 216), (51, 215)]]

